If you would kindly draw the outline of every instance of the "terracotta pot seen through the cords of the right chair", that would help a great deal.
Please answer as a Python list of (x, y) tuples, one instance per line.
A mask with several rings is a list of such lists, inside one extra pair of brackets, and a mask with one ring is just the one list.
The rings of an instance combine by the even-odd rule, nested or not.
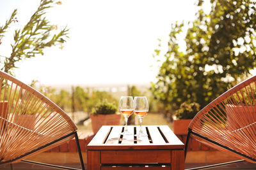
[(236, 106), (227, 104), (227, 125), (230, 131), (256, 122), (256, 106)]

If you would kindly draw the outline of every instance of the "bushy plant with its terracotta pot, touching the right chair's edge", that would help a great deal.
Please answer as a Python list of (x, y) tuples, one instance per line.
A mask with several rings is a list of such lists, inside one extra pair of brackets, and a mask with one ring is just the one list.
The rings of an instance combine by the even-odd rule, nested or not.
[(173, 132), (175, 134), (188, 134), (188, 125), (200, 110), (198, 103), (182, 103), (179, 110), (175, 111), (173, 118)]

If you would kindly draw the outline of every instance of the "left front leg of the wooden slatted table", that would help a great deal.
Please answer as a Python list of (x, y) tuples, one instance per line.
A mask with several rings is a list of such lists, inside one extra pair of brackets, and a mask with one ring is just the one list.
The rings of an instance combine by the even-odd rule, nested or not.
[(87, 151), (87, 169), (100, 170), (100, 151)]

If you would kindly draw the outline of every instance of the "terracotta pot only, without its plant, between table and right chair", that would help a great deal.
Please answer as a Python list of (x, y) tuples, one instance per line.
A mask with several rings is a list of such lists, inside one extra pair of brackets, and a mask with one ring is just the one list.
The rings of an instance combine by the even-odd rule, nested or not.
[(173, 120), (173, 132), (175, 134), (188, 134), (188, 125), (192, 119)]

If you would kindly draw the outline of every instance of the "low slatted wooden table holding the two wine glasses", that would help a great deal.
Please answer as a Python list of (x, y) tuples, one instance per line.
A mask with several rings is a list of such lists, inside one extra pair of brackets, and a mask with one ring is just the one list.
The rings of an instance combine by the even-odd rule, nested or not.
[(87, 169), (184, 169), (184, 144), (167, 125), (143, 126), (148, 136), (120, 135), (124, 126), (102, 126), (87, 146)]

